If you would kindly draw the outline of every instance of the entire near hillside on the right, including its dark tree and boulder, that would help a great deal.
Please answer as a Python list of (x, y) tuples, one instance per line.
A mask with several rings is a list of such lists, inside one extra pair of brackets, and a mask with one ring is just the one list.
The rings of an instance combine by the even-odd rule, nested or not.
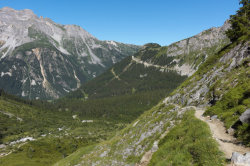
[[(225, 156), (216, 141), (239, 147), (250, 145), (250, 39), (249, 29), (242, 28), (242, 25), (249, 27), (249, 19), (244, 22), (246, 15), (242, 11), (245, 8), (249, 9), (248, 3), (237, 12), (235, 20), (238, 22), (227, 32), (237, 34), (228, 35), (231, 43), (208, 57), (169, 97), (144, 112), (112, 139), (81, 148), (55, 165), (229, 164), (231, 156)], [(235, 20), (232, 16), (230, 22)], [(205, 110), (209, 121), (223, 122), (228, 129), (225, 134), (235, 136), (236, 140), (213, 139), (211, 128), (195, 118), (197, 108)], [(235, 165), (248, 164), (247, 155), (243, 154), (233, 156), (231, 161)]]

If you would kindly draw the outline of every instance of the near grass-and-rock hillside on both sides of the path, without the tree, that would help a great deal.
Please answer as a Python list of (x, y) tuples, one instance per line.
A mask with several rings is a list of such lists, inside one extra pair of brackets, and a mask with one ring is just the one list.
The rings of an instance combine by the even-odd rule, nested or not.
[[(249, 145), (249, 125), (236, 123), (239, 116), (249, 108), (249, 97), (247, 97), (250, 82), (247, 76), (249, 74), (248, 55), (248, 42), (231, 44), (224, 51), (209, 58), (194, 76), (173, 92), (171, 97), (146, 111), (113, 139), (90, 149), (82, 148), (56, 165), (91, 165), (93, 163), (96, 165), (133, 165), (140, 163), (143, 156), (149, 151), (156, 152), (152, 157), (151, 165), (159, 163), (159, 158), (162, 160), (163, 156), (168, 159), (167, 161), (172, 161), (177, 165), (185, 165), (188, 162), (201, 162), (202, 165), (224, 165), (223, 154), (219, 152), (214, 140), (211, 140), (208, 127), (195, 119), (190, 120), (194, 117), (189, 113), (190, 111), (187, 111), (192, 108), (187, 106), (206, 106), (207, 114), (218, 115), (218, 118), (225, 122), (227, 128), (237, 124), (235, 134), (238, 141)], [(213, 61), (211, 61), (212, 59)], [(237, 61), (233, 59), (237, 59)], [(207, 85), (211, 88), (204, 88)], [(213, 90), (221, 90), (225, 93), (219, 93), (221, 96), (216, 97), (216, 104), (211, 105), (214, 97)], [(235, 103), (235, 101), (240, 103)], [(230, 106), (231, 102), (234, 105)], [(229, 106), (227, 111), (221, 110), (227, 105)], [(199, 123), (201, 124), (199, 125)], [(195, 126), (199, 126), (199, 129), (195, 129)], [(203, 132), (201, 126), (202, 128), (204, 126)], [(190, 131), (191, 128), (192, 131)], [(188, 134), (190, 136), (187, 136), (185, 131), (190, 131)], [(201, 133), (198, 133), (199, 131)], [(208, 134), (206, 138), (201, 137), (204, 132)], [(195, 135), (196, 137), (194, 137)], [(187, 143), (189, 137), (202, 139), (204, 143), (192, 144), (190, 142), (192, 149), (190, 151), (190, 148), (183, 149), (184, 145), (181, 146), (176, 142), (176, 139), (183, 139)], [(177, 147), (180, 156), (175, 158)], [(164, 151), (164, 148), (167, 150)], [(200, 158), (195, 158), (198, 157), (195, 154), (201, 155)], [(211, 158), (216, 160), (211, 160)]]

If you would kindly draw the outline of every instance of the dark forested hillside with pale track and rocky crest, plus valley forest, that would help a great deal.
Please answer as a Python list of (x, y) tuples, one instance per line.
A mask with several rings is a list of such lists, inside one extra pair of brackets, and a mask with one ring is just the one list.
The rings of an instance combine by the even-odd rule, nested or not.
[[(222, 27), (211, 28), (169, 46), (145, 44), (132, 57), (56, 100), (55, 106), (88, 117), (131, 123), (188, 78), (188, 71), (196, 71), (206, 58), (229, 43), (225, 36), (228, 27), (226, 22)], [(185, 51), (187, 47), (189, 52)]]

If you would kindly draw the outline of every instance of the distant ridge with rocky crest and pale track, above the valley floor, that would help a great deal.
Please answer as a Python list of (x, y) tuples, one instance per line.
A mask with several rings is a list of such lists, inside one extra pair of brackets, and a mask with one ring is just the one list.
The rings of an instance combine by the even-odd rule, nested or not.
[(225, 35), (228, 28), (225, 22), (222, 27), (208, 29), (169, 46), (145, 44), (133, 56), (115, 64), (67, 97), (103, 98), (153, 90), (161, 90), (167, 95), (208, 57), (229, 43)]

